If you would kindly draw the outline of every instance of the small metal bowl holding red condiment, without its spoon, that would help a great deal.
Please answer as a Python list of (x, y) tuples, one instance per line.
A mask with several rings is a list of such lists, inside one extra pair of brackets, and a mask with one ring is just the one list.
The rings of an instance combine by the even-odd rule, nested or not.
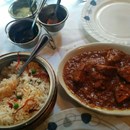
[(44, 26), (49, 32), (58, 32), (60, 31), (64, 25), (65, 22), (68, 18), (68, 11), (67, 9), (63, 6), (60, 5), (58, 12), (57, 12), (57, 18), (59, 20), (58, 23), (56, 24), (47, 24), (47, 20), (51, 14), (54, 13), (56, 4), (50, 4), (42, 8), (38, 15), (38, 21), (39, 23)]

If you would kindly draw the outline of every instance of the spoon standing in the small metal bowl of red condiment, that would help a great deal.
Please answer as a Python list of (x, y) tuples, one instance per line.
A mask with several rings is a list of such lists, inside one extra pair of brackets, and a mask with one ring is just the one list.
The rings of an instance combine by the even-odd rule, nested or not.
[(57, 12), (58, 12), (58, 8), (60, 6), (61, 0), (57, 0), (57, 4), (55, 7), (54, 12), (49, 16), (48, 20), (47, 20), (47, 24), (55, 24), (59, 22), (59, 19), (57, 17)]

